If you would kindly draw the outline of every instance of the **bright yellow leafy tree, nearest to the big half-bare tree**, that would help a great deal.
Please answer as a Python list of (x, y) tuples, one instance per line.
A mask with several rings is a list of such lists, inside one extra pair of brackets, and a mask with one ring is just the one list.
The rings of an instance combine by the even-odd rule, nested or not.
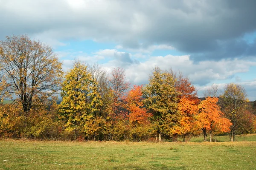
[(62, 83), (59, 112), (66, 122), (66, 130), (74, 133), (74, 139), (81, 133), (86, 116), (95, 117), (102, 104), (95, 83), (87, 66), (80, 61), (74, 62)]

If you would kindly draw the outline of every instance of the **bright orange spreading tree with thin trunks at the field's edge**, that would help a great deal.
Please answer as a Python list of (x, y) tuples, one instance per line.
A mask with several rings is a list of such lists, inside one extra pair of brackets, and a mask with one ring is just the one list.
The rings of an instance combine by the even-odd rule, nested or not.
[(206, 141), (207, 131), (210, 133), (210, 142), (212, 142), (212, 133), (229, 132), (229, 119), (223, 118), (220, 106), (217, 104), (218, 98), (207, 97), (198, 105), (199, 114), (196, 116), (197, 123), (204, 133), (204, 141)]

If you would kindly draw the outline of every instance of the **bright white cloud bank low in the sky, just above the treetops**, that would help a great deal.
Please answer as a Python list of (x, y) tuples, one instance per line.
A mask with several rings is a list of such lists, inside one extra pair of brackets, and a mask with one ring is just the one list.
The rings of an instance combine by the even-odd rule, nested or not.
[[(183, 75), (188, 76), (198, 89), (198, 95), (203, 96), (204, 89), (213, 82), (229, 82), (230, 79), (236, 80), (245, 86), (247, 91), (250, 91), (249, 99), (254, 99), (256, 94), (256, 80), (241, 81), (241, 78), (236, 74), (246, 73), (250, 68), (256, 66), (256, 59), (221, 59), (219, 61), (200, 61), (194, 62), (189, 55), (183, 56), (150, 56), (145, 61), (137, 61), (134, 55), (116, 49), (99, 50), (93, 53), (94, 56), (84, 56), (79, 59), (91, 64), (93, 57), (108, 58), (108, 62), (102, 64), (107, 70), (116, 67), (125, 69), (126, 77), (132, 84), (147, 84), (148, 75), (151, 74), (155, 66), (159, 66), (163, 70), (172, 68), (174, 71), (181, 71)], [(79, 54), (78, 54), (79, 55)], [(63, 60), (64, 68), (67, 70), (70, 67), (71, 60)], [(218, 83), (223, 88), (225, 83)]]

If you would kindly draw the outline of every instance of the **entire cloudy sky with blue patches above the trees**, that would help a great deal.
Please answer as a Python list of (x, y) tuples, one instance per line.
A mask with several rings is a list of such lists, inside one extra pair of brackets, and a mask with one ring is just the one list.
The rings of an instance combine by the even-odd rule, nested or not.
[(189, 77), (198, 96), (234, 82), (256, 100), (256, 0), (0, 0), (0, 40), (27, 34), (73, 59), (125, 69), (148, 83), (155, 66)]

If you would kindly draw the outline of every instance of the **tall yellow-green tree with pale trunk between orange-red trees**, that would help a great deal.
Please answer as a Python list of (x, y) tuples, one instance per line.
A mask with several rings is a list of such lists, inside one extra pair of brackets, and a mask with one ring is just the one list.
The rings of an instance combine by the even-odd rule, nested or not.
[(154, 68), (148, 85), (143, 88), (143, 97), (146, 108), (153, 114), (161, 142), (162, 134), (171, 136), (171, 129), (177, 123), (178, 93), (172, 74), (161, 71), (159, 67)]

